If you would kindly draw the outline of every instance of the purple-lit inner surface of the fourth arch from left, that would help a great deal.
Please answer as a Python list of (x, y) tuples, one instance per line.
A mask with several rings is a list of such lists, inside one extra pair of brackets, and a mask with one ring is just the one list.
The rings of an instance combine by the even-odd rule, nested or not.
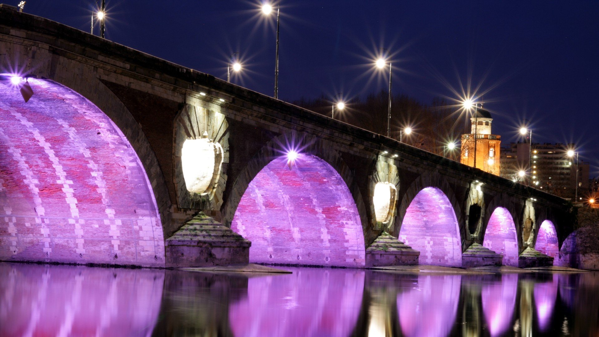
[(518, 267), (518, 237), (509, 210), (497, 207), (491, 214), (483, 246), (503, 255), (505, 266)]

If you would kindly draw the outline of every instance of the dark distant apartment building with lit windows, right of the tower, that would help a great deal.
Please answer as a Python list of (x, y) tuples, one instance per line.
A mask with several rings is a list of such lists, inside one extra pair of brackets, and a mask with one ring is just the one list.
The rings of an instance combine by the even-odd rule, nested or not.
[(583, 161), (577, 166), (576, 155), (568, 157), (568, 149), (574, 148), (574, 144), (533, 143), (531, 149), (528, 142), (510, 143), (501, 149), (501, 176), (525, 185), (530, 179), (531, 186), (564, 198), (574, 197), (578, 183), (578, 195), (584, 197), (591, 188), (590, 166)]

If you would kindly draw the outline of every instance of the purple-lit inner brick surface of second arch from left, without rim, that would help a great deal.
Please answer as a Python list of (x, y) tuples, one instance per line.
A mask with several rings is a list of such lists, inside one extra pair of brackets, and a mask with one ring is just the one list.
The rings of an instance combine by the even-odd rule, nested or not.
[(250, 261), (364, 266), (358, 209), (343, 178), (313, 155), (271, 161), (250, 182), (231, 229), (252, 242)]

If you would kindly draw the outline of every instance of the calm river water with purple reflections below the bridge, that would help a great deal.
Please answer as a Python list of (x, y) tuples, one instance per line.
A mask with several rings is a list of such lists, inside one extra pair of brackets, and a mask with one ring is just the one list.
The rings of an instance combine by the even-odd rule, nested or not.
[(0, 263), (0, 336), (599, 336), (599, 272)]

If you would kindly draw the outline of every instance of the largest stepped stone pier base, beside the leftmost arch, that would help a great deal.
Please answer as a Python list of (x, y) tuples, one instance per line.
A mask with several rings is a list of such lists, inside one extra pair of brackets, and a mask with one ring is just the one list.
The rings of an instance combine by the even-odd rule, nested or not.
[(249, 263), (251, 242), (199, 213), (165, 243), (167, 267)]

